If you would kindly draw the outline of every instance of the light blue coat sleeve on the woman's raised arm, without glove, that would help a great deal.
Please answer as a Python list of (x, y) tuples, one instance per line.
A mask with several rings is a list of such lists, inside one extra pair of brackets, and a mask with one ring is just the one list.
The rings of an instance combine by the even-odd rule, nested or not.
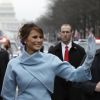
[(62, 62), (58, 57), (52, 60), (52, 66), (57, 66), (55, 69), (56, 75), (66, 79), (67, 81), (83, 82), (91, 79), (91, 72), (89, 68), (80, 66), (77, 69), (69, 62)]

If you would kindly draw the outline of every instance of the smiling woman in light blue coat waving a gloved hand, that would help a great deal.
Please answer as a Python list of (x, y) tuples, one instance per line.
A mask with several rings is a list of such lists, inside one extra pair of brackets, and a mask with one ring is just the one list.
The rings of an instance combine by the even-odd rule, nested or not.
[(96, 51), (93, 35), (88, 38), (87, 57), (77, 69), (52, 54), (40, 52), (43, 31), (34, 23), (21, 27), (20, 39), (24, 50), (8, 63), (1, 93), (3, 100), (51, 100), (55, 75), (66, 81), (91, 79), (90, 66)]

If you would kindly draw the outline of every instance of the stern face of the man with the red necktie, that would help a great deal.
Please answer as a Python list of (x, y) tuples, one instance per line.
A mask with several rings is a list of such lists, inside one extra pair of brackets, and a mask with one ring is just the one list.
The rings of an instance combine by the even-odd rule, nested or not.
[(70, 25), (61, 26), (60, 38), (63, 43), (69, 43), (69, 41), (72, 39), (72, 31)]

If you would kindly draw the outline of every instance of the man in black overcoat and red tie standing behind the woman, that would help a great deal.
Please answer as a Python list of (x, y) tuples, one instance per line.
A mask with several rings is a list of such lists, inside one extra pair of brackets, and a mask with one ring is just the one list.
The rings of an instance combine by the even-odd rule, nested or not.
[[(68, 47), (68, 62), (75, 68), (81, 65), (86, 53), (83, 47), (74, 43), (73, 30), (70, 24), (63, 24), (59, 33), (60, 42), (49, 49), (49, 53), (52, 53), (59, 57), (62, 61), (66, 60), (65, 50)], [(81, 100), (82, 93), (79, 88), (72, 87), (72, 82), (64, 80), (63, 78), (56, 76), (54, 84), (54, 100)]]

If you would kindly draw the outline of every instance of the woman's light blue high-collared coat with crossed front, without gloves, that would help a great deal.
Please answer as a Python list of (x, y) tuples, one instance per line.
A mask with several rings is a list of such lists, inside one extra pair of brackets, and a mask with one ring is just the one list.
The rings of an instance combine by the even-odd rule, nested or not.
[(2, 96), (4, 100), (51, 100), (49, 92), (53, 92), (55, 75), (76, 82), (91, 79), (88, 67), (75, 69), (52, 54), (36, 52), (29, 55), (24, 51), (8, 64)]

